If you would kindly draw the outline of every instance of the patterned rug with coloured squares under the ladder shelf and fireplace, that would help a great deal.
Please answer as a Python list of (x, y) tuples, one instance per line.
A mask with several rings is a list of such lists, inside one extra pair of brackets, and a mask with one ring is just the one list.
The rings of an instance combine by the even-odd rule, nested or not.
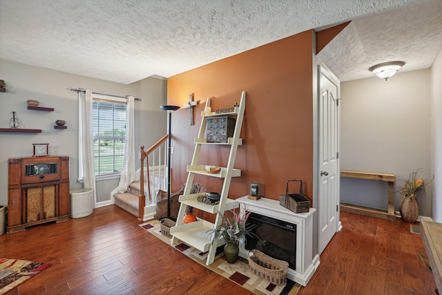
[[(143, 229), (153, 234), (160, 240), (171, 245), (171, 237), (165, 236), (160, 231), (160, 222), (158, 220), (151, 220), (140, 225)], [(287, 283), (282, 286), (274, 285), (268, 280), (264, 280), (259, 276), (251, 273), (247, 259), (240, 258), (236, 263), (230, 264), (224, 260), (222, 247), (220, 247), (220, 254), (215, 256), (215, 261), (211, 265), (206, 265), (207, 253), (202, 253), (200, 250), (190, 247), (184, 243), (173, 245), (175, 249), (181, 251), (189, 258), (195, 260), (200, 265), (211, 269), (213, 272), (228, 278), (238, 285), (244, 287), (255, 294), (288, 294), (295, 295), (298, 293), (301, 285), (292, 280), (287, 279)]]

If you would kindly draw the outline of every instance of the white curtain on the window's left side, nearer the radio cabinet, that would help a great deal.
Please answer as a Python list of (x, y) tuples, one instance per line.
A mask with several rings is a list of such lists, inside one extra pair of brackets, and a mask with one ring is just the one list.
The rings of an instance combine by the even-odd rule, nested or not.
[(78, 93), (79, 100), (79, 179), (83, 179), (83, 187), (93, 189), (94, 207), (97, 207), (97, 189), (95, 187), (94, 139), (93, 139), (93, 101), (92, 91)]

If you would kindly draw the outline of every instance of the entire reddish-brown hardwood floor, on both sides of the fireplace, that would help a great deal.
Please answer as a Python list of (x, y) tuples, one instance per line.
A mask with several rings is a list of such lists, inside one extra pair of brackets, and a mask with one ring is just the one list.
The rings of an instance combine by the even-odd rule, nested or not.
[[(398, 220), (341, 213), (343, 230), (302, 294), (434, 294), (417, 252), (421, 236)], [(93, 215), (0, 236), (0, 256), (52, 263), (9, 294), (250, 294), (141, 229), (115, 205)], [(426, 257), (426, 254), (425, 254)]]

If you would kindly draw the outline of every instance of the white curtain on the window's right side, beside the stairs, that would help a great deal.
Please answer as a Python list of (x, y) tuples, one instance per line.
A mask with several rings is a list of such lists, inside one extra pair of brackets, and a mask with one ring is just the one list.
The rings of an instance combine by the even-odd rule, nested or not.
[(124, 193), (128, 191), (129, 184), (135, 181), (135, 97), (127, 97), (127, 117), (126, 117), (126, 140), (124, 144), (124, 159), (122, 174), (119, 184), (111, 192), (111, 201), (114, 193)]

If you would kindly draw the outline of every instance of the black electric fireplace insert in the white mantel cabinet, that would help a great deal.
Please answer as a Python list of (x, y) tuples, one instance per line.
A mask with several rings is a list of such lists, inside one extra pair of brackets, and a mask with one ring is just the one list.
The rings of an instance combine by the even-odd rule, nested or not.
[(258, 213), (250, 213), (247, 222), (253, 227), (253, 234), (247, 236), (245, 248), (258, 249), (266, 255), (285, 260), (291, 269), (296, 269), (296, 224), (278, 220)]

